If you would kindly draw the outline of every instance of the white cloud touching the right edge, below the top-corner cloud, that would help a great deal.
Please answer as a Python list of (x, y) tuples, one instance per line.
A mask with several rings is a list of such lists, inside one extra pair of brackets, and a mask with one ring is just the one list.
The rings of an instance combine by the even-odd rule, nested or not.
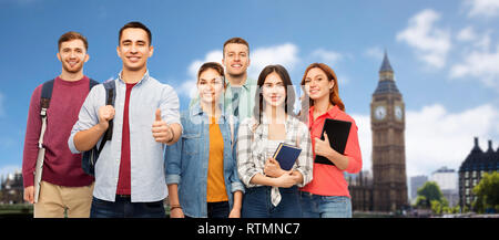
[(473, 50), (466, 54), (461, 63), (452, 65), (451, 79), (476, 77), (486, 86), (499, 92), (499, 44), (496, 52)]

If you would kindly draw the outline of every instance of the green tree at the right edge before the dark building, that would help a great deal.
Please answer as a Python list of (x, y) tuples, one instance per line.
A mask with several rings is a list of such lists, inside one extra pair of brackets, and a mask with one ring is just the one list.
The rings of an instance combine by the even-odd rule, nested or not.
[(477, 197), (473, 207), (477, 212), (499, 211), (499, 173), (483, 174), (480, 182), (473, 188)]

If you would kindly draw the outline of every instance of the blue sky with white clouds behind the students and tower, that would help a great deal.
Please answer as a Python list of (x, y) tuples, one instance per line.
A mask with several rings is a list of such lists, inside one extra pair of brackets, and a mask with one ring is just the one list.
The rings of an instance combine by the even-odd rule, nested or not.
[(31, 94), (61, 72), (59, 36), (88, 38), (84, 73), (103, 82), (122, 67), (118, 32), (130, 21), (151, 29), (147, 67), (175, 87), (181, 109), (198, 66), (221, 62), (230, 38), (249, 42), (253, 79), (282, 64), (297, 85), (308, 64), (324, 62), (338, 76), (370, 170), (369, 104), (386, 51), (406, 106), (408, 177), (458, 170), (473, 137), (482, 150), (488, 139), (499, 148), (499, 0), (0, 0), (0, 175), (21, 169)]

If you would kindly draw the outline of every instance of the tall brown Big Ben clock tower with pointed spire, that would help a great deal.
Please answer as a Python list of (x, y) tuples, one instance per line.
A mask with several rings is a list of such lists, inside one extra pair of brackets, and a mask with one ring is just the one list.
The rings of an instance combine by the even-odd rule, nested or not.
[(373, 131), (373, 207), (397, 211), (408, 205), (405, 150), (405, 105), (385, 52), (370, 103)]

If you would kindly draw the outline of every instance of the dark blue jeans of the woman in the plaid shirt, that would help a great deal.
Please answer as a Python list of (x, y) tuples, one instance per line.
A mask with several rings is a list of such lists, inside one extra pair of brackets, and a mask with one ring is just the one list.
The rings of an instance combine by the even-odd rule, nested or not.
[(272, 187), (246, 188), (241, 209), (242, 218), (301, 218), (298, 188), (279, 188), (281, 202), (274, 207), (271, 202)]

